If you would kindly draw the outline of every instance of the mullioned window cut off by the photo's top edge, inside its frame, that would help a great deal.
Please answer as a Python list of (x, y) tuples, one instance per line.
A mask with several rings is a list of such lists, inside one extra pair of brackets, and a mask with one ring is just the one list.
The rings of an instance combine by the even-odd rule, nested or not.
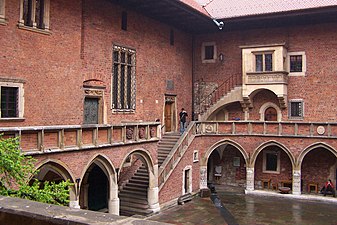
[(21, 0), (20, 26), (49, 29), (50, 0)]

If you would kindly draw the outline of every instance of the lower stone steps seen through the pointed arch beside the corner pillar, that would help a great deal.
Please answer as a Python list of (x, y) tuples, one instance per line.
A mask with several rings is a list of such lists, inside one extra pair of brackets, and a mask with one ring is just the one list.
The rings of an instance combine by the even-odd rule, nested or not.
[(119, 192), (121, 216), (148, 216), (152, 213), (147, 201), (148, 187), (149, 173), (142, 165)]

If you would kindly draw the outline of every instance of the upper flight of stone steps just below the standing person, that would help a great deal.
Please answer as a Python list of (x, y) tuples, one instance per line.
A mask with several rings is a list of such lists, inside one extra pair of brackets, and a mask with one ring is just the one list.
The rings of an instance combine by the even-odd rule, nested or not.
[(158, 166), (160, 167), (180, 138), (179, 133), (165, 133), (158, 143)]

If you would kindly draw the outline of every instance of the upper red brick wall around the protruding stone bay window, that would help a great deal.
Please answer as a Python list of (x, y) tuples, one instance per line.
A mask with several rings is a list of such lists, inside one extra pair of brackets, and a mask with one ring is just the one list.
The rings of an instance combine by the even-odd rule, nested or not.
[[(289, 77), (288, 99), (304, 100), (305, 121), (336, 121), (337, 88), (337, 24), (287, 26), (245, 31), (217, 32), (199, 35), (196, 39), (196, 80), (223, 82), (230, 76), (242, 77), (240, 46), (285, 42), (288, 52), (304, 51), (307, 59), (305, 77)], [(217, 52), (224, 62), (202, 63), (202, 42), (216, 42)], [(259, 119), (258, 107), (267, 99), (255, 98), (251, 119)], [(272, 101), (274, 102), (275, 99)], [(288, 120), (288, 109), (282, 110), (282, 120)]]

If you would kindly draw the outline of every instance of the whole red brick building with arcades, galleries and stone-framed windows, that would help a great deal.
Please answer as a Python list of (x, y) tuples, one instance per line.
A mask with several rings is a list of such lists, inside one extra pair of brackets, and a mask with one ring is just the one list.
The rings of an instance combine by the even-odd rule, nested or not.
[[(219, 2), (0, 0), (0, 131), (38, 179), (76, 184), (72, 207), (114, 214), (210, 182), (336, 184), (336, 4)], [(181, 108), (190, 124), (164, 154)]]

